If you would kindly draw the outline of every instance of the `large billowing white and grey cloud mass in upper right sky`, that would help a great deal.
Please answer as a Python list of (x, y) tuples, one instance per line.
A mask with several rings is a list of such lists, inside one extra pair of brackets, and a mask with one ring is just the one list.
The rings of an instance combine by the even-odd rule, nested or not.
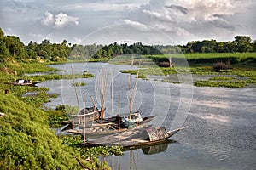
[(241, 26), (236, 15), (247, 13), (246, 9), (242, 0), (151, 0), (148, 5), (131, 10), (125, 19), (152, 26), (183, 43), (224, 37), (230, 41), (238, 34), (232, 32)]

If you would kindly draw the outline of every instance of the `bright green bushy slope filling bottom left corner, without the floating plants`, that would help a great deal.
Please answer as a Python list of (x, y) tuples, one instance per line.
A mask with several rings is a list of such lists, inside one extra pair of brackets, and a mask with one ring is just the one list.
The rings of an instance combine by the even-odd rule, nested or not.
[[(80, 169), (73, 150), (46, 124), (48, 115), (13, 95), (0, 94), (1, 169)], [(15, 104), (15, 105), (14, 105)]]

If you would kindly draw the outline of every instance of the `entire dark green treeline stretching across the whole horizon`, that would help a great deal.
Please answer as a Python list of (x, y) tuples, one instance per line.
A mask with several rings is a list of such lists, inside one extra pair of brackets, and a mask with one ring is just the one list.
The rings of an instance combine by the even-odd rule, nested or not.
[(256, 52), (256, 41), (251, 37), (236, 36), (233, 42), (217, 42), (203, 40), (188, 42), (186, 45), (143, 45), (141, 42), (128, 45), (114, 42), (109, 45), (79, 45), (67, 43), (51, 43), (43, 40), (41, 43), (29, 42), (25, 45), (19, 37), (5, 36), (0, 28), (0, 61), (9, 59), (21, 61), (37, 60), (65, 61), (67, 59), (112, 59), (121, 54), (188, 54), (188, 53), (243, 53)]

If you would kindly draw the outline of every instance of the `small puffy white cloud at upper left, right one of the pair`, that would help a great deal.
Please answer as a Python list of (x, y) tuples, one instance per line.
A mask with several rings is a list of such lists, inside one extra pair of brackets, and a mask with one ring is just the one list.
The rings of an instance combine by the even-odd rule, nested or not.
[(55, 27), (61, 28), (69, 23), (74, 23), (75, 25), (79, 25), (79, 18), (68, 16), (67, 14), (57, 14), (55, 15)]

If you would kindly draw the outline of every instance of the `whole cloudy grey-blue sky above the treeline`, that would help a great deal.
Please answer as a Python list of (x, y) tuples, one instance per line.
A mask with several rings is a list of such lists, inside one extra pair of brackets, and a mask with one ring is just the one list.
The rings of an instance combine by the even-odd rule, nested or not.
[(256, 40), (255, 8), (256, 0), (1, 0), (0, 27), (25, 44)]

